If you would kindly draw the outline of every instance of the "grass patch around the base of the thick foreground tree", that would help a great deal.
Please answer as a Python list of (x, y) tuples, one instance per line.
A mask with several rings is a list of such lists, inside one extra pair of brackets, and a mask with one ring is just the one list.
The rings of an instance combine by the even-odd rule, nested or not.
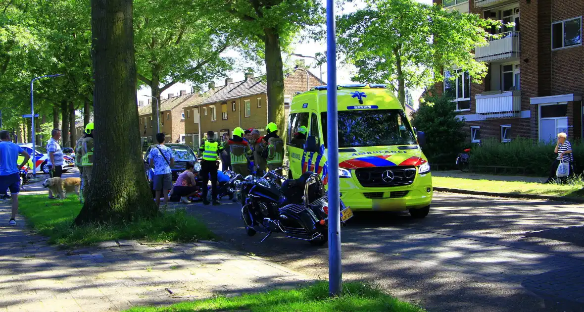
[(47, 195), (19, 196), (19, 212), (40, 234), (50, 242), (73, 247), (90, 245), (99, 241), (125, 239), (147, 241), (193, 241), (215, 238), (205, 224), (189, 216), (184, 210), (161, 213), (154, 219), (136, 220), (132, 223), (95, 223), (74, 226), (81, 204), (77, 196), (65, 200), (47, 199)]

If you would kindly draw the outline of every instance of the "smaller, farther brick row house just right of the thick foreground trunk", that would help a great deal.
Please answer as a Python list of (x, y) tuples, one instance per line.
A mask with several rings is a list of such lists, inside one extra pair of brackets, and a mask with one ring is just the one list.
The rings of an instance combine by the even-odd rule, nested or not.
[[(199, 98), (199, 93), (187, 93), (180, 91), (180, 95), (175, 96), (168, 93), (168, 98), (161, 99), (160, 103), (160, 131), (166, 135), (167, 143), (185, 143), (185, 106)], [(140, 141), (142, 144), (152, 144), (155, 139), (152, 137), (152, 102), (148, 99), (147, 105), (143, 101), (138, 102), (138, 119), (140, 125)], [(145, 145), (145, 144), (144, 144)]]

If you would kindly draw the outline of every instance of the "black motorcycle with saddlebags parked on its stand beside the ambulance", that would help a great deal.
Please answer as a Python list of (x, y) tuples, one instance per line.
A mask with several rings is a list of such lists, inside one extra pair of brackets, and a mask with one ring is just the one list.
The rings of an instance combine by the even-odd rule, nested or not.
[[(262, 178), (234, 176), (235, 194), (241, 198), (241, 219), (246, 233), (284, 233), (286, 237), (323, 245), (328, 241), (328, 193), (318, 174), (305, 172), (298, 179), (286, 179), (274, 171)], [(278, 182), (284, 181), (281, 186)], [(340, 221), (353, 217), (340, 201)]]

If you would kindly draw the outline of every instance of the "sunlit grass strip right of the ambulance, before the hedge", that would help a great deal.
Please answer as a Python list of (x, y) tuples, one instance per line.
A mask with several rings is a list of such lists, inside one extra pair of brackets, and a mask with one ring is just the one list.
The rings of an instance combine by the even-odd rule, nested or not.
[(578, 192), (578, 190), (584, 188), (584, 183), (582, 180), (571, 181), (566, 184), (541, 184), (433, 176), (432, 184), (436, 188), (477, 190), (480, 192), (534, 194), (546, 196), (584, 196), (582, 192)]

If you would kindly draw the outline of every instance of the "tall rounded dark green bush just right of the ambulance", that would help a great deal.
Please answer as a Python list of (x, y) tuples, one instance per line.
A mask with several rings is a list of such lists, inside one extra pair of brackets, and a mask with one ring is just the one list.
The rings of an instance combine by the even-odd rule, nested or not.
[(454, 164), (463, 149), (464, 120), (458, 119), (455, 110), (456, 105), (447, 96), (428, 96), (412, 113), (412, 125), (426, 136), (422, 150), (430, 163)]

